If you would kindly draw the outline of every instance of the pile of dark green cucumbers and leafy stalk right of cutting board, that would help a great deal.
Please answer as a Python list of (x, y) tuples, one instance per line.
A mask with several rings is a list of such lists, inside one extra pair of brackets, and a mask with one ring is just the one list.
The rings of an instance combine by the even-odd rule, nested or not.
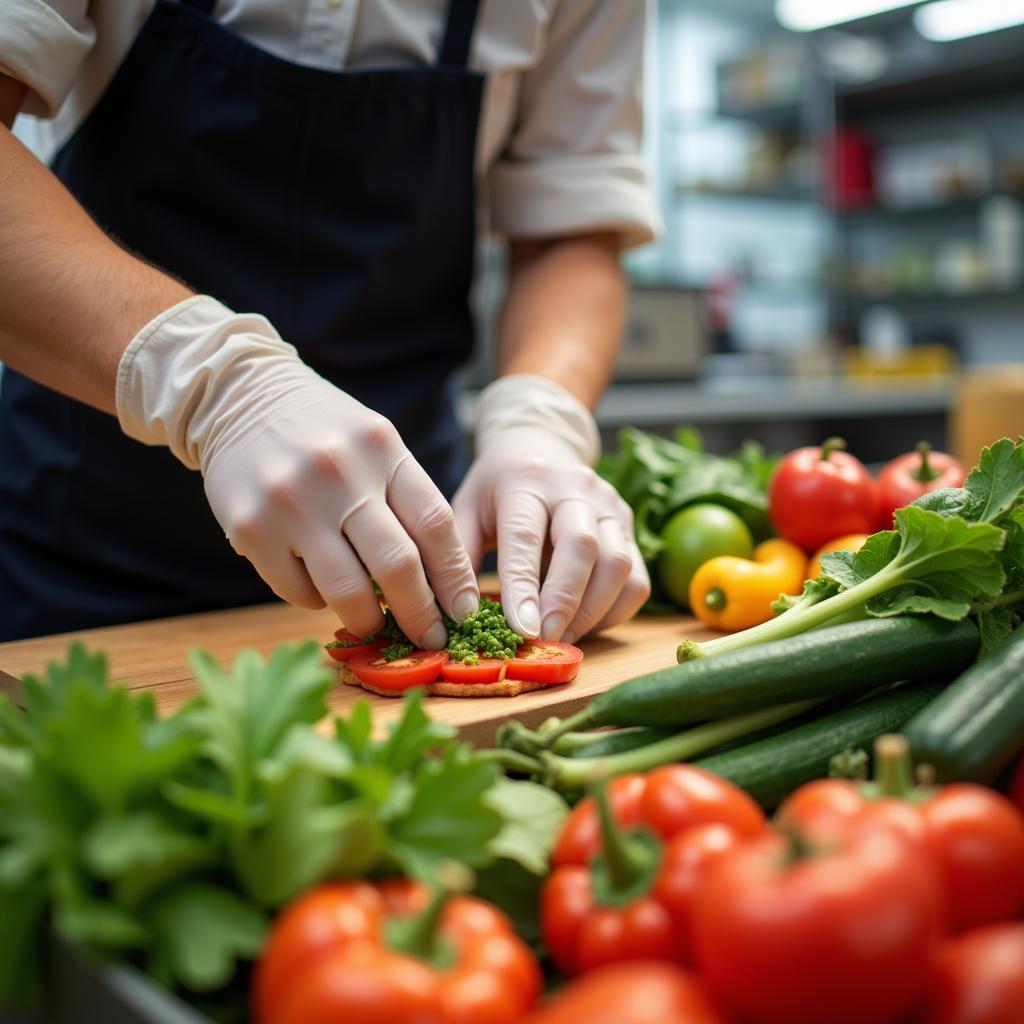
[[(770, 622), (686, 641), (679, 664), (621, 683), (537, 732), (512, 723), (501, 740), (523, 765), (532, 762), (536, 777), (570, 794), (714, 754), (716, 772), (771, 806), (823, 774), (852, 737), (869, 745), (920, 712), (928, 728), (914, 719), (908, 731), (949, 762), (946, 777), (992, 781), (1024, 742), (1016, 672), (1024, 654), (1009, 639), (1024, 607), (1022, 504), (1024, 440), (1004, 439), (982, 453), (963, 487), (899, 510), (897, 528), (873, 535), (855, 554), (826, 555), (822, 578), (782, 599)], [(975, 676), (953, 690), (983, 696), (936, 699), (941, 715), (925, 708), (979, 653), (987, 657)], [(922, 693), (927, 700), (915, 702)], [(666, 735), (672, 726), (680, 731)], [(639, 741), (637, 730), (646, 732)], [(970, 752), (951, 733), (971, 734)]]

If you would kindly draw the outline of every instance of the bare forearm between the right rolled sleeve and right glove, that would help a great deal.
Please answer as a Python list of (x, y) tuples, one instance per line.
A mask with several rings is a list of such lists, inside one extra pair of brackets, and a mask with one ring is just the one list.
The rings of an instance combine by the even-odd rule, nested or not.
[(615, 366), (626, 302), (616, 236), (511, 242), (500, 373), (547, 377), (593, 409)]

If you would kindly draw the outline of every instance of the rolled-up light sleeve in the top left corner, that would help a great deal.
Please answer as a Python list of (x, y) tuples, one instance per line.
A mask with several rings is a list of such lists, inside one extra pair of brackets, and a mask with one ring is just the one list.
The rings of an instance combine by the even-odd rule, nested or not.
[(88, 0), (0, 2), (0, 72), (29, 87), (26, 114), (57, 112), (94, 42)]

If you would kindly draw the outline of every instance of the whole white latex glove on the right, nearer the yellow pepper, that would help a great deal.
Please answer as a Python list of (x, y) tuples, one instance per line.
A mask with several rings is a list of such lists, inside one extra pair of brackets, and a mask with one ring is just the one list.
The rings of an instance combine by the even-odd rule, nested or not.
[(633, 513), (591, 468), (599, 447), (586, 407), (546, 378), (503, 377), (480, 393), (476, 459), (453, 506), (474, 565), (497, 546), (502, 603), (523, 636), (571, 643), (650, 594)]

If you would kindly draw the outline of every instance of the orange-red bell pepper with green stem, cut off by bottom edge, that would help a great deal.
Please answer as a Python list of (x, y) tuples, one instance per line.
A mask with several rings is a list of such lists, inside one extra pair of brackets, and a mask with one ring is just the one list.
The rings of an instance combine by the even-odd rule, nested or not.
[(350, 882), (278, 918), (253, 1007), (260, 1024), (517, 1024), (541, 986), (534, 954), (482, 900)]

